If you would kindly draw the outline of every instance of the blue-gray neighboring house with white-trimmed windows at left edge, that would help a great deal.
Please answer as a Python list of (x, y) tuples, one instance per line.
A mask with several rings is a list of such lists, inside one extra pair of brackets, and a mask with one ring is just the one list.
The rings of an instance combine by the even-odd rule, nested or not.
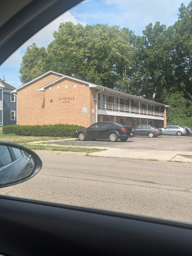
[(15, 89), (0, 79), (0, 126), (17, 124), (17, 94), (11, 93)]

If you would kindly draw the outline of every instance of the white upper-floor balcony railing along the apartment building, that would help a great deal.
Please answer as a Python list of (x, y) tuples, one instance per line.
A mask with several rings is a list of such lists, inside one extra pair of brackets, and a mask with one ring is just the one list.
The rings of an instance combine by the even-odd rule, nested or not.
[(105, 102), (105, 101), (98, 101), (98, 109), (135, 113), (135, 114), (142, 114), (147, 116), (158, 116), (158, 117), (164, 116), (164, 113), (160, 111), (147, 110), (145, 108), (130, 107), (126, 105), (121, 105), (121, 104), (112, 103), (112, 102)]

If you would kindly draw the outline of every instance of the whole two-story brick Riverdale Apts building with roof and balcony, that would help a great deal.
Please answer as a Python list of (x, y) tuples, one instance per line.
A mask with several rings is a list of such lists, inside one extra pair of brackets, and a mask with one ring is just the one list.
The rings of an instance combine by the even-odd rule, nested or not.
[(49, 71), (18, 87), (17, 124), (166, 126), (166, 105)]

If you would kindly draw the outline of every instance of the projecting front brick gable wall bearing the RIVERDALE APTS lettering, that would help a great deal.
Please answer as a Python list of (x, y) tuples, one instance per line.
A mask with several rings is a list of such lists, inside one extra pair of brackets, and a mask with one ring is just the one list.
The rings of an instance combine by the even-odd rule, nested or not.
[[(85, 85), (85, 86), (83, 86)], [(66, 88), (67, 86), (67, 88)], [(96, 90), (88, 84), (64, 78), (45, 90), (45, 124), (78, 124), (90, 126), (96, 122)], [(50, 102), (52, 100), (52, 102)], [(82, 110), (87, 109), (87, 113)], [(94, 113), (92, 113), (94, 108)], [(94, 116), (94, 121), (92, 121)]]

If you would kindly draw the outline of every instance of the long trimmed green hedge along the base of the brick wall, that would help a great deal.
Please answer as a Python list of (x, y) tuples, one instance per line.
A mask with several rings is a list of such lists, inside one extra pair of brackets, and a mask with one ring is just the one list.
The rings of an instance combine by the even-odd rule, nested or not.
[(10, 125), (4, 126), (4, 134), (15, 133), (20, 136), (49, 136), (49, 137), (71, 137), (74, 138), (75, 130), (84, 128), (74, 124), (48, 124), (36, 126)]

